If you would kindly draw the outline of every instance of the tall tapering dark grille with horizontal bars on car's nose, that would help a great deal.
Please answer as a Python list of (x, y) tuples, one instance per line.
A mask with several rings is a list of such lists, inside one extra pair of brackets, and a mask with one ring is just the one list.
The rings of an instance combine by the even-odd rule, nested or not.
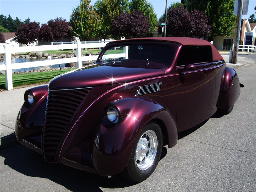
[(48, 90), (42, 147), (46, 162), (56, 163), (61, 137), (74, 112), (92, 88)]

